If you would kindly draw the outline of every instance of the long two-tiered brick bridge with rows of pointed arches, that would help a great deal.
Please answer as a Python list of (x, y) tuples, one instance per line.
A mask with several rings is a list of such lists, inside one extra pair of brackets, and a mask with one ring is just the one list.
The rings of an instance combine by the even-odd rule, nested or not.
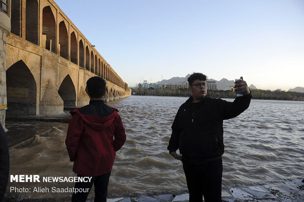
[(53, 0), (8, 0), (7, 7), (6, 13), (1, 10), (10, 19), (10, 33), (2, 30), (1, 37), (6, 101), (0, 101), (2, 110), (7, 104), (6, 114), (60, 114), (65, 106), (86, 105), (86, 81), (92, 76), (106, 80), (104, 101), (131, 95), (127, 83)]

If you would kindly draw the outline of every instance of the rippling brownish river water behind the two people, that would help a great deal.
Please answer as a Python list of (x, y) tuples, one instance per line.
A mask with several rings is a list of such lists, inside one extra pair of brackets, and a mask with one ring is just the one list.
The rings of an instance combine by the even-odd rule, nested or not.
[[(171, 125), (187, 98), (130, 96), (108, 104), (117, 108), (127, 141), (117, 152), (108, 195), (186, 190), (182, 163), (167, 151)], [(233, 100), (228, 100), (233, 101)], [(48, 124), (48, 123), (46, 123)], [(68, 124), (46, 137), (36, 136), (23, 149), (10, 150), (10, 175), (72, 177), (64, 144)], [(267, 183), (304, 176), (304, 101), (252, 100), (240, 116), (224, 121), (223, 185)], [(73, 187), (74, 183), (9, 182), (11, 186)], [(27, 193), (32, 197), (65, 197), (71, 193)], [(93, 194), (93, 189), (91, 194)]]

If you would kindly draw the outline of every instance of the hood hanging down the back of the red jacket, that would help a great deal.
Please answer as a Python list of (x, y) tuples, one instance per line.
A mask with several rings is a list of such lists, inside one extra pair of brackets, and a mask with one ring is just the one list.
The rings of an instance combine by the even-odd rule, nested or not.
[(108, 116), (101, 117), (93, 114), (84, 115), (81, 114), (78, 109), (74, 109), (72, 112), (72, 116), (75, 114), (79, 115), (79, 117), (89, 126), (91, 126), (94, 129), (104, 129), (113, 124), (115, 121), (115, 117), (118, 114), (118, 110), (113, 108), (114, 112)]

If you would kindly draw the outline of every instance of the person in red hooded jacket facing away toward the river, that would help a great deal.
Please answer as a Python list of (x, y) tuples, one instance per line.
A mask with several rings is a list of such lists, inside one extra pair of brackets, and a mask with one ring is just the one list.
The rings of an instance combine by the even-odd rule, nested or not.
[[(94, 183), (95, 202), (106, 202), (115, 151), (126, 141), (118, 110), (103, 103), (105, 86), (99, 76), (88, 79), (90, 103), (70, 112), (73, 117), (65, 140), (73, 171), (78, 177), (92, 177), (89, 182), (76, 182), (75, 188), (90, 192)], [(89, 192), (73, 193), (72, 202), (85, 202)]]

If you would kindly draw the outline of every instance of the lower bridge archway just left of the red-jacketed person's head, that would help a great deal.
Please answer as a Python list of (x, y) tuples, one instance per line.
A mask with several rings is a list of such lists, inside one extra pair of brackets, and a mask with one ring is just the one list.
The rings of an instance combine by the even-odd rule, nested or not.
[(58, 94), (65, 107), (76, 106), (76, 90), (70, 75), (63, 79)]

